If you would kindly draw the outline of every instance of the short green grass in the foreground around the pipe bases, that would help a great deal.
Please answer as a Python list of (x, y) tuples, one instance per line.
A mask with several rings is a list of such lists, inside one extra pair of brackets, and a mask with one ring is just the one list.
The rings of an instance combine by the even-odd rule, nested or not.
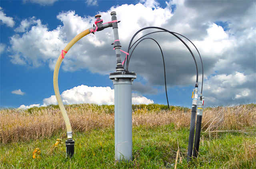
[[(95, 129), (75, 132), (75, 154), (66, 158), (65, 145), (58, 145), (50, 152), (57, 138), (65, 140), (60, 131), (51, 138), (36, 141), (0, 145), (0, 168), (70, 168), (70, 169), (158, 169), (174, 168), (176, 152), (180, 149), (177, 168), (192, 169), (255, 169), (256, 138), (241, 133), (202, 135), (198, 159), (186, 162), (188, 128), (175, 129), (174, 125), (133, 127), (133, 161), (116, 163), (114, 160), (114, 129)], [(64, 142), (64, 141), (62, 141)], [(246, 144), (245, 144), (246, 143)], [(248, 145), (248, 149), (244, 145)], [(33, 159), (32, 152), (38, 147), (40, 158)], [(248, 152), (250, 150), (250, 152)], [(246, 152), (247, 151), (247, 152)], [(50, 153), (49, 153), (50, 152)], [(247, 157), (246, 157), (247, 153)], [(254, 153), (254, 154), (250, 154)], [(246, 160), (247, 158), (247, 160)]]

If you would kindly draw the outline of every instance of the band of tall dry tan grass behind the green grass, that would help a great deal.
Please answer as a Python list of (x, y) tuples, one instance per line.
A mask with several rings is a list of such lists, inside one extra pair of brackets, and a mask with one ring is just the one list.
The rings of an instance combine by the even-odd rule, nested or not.
[[(157, 107), (157, 106), (156, 106)], [(114, 106), (77, 104), (66, 106), (72, 130), (85, 132), (100, 128), (114, 128)], [(176, 128), (190, 126), (190, 109), (172, 110), (134, 108), (134, 126), (159, 126), (174, 124)], [(232, 107), (206, 108), (202, 117), (202, 129), (243, 130), (256, 127), (256, 104)], [(56, 107), (30, 110), (0, 110), (0, 143), (28, 141), (51, 137), (66, 128), (60, 110)]]

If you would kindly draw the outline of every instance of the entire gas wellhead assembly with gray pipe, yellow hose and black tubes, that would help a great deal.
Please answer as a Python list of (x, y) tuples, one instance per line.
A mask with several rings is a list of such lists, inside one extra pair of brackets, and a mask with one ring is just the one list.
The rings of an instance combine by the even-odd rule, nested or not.
[[(74, 145), (75, 141), (72, 137), (72, 130), (70, 121), (68, 119), (67, 112), (64, 108), (63, 102), (60, 98), (60, 92), (58, 88), (58, 73), (60, 69), (60, 65), (62, 63), (62, 60), (64, 59), (66, 53), (69, 51), (69, 49), (82, 37), (90, 34), (90, 33), (96, 33), (97, 31), (102, 31), (105, 28), (112, 27), (114, 31), (114, 50), (116, 51), (116, 71), (114, 73), (110, 73), (109, 78), (113, 81), (114, 84), (114, 98), (115, 98), (115, 160), (116, 161), (125, 161), (129, 162), (132, 161), (132, 82), (134, 79), (136, 79), (136, 73), (128, 71), (130, 59), (132, 57), (132, 53), (134, 49), (138, 46), (138, 44), (141, 41), (144, 41), (146, 39), (153, 40), (156, 45), (158, 45), (163, 59), (163, 67), (164, 67), (164, 81), (165, 81), (165, 89), (166, 89), (166, 73), (165, 73), (165, 63), (164, 63), (164, 55), (162, 52), (162, 48), (160, 47), (159, 43), (151, 38), (148, 37), (148, 35), (152, 33), (158, 33), (158, 32), (166, 32), (170, 33), (171, 35), (178, 38), (188, 49), (190, 54), (192, 55), (194, 59), (194, 63), (196, 66), (196, 85), (192, 93), (192, 112), (191, 112), (191, 121), (190, 121), (190, 134), (188, 138), (188, 155), (187, 155), (187, 161), (189, 162), (192, 157), (197, 157), (198, 150), (199, 150), (199, 142), (200, 142), (200, 132), (201, 132), (201, 122), (202, 122), (202, 112), (203, 112), (203, 105), (204, 105), (204, 97), (202, 96), (202, 88), (203, 88), (203, 64), (202, 64), (202, 58), (200, 56), (200, 53), (196, 46), (190, 41), (187, 37), (175, 33), (172, 31), (168, 31), (164, 28), (159, 27), (146, 27), (138, 30), (130, 40), (127, 52), (121, 50), (121, 43), (119, 40), (118, 35), (118, 23), (120, 21), (117, 20), (116, 12), (111, 12), (111, 21), (103, 23), (103, 20), (101, 19), (101, 16), (98, 14), (95, 16), (95, 25), (93, 25), (92, 28), (86, 29), (85, 31), (78, 34), (74, 39), (72, 39), (68, 45), (61, 51), (60, 56), (58, 57), (57, 63), (55, 65), (54, 69), (54, 75), (53, 75), (53, 85), (54, 85), (54, 92), (56, 95), (56, 99), (58, 101), (58, 105), (60, 107), (60, 111), (62, 113), (62, 116), (64, 118), (66, 129), (67, 129), (67, 140), (66, 143), (66, 157), (72, 157), (74, 155)], [(137, 39), (134, 43), (132, 41), (136, 37), (136, 35), (146, 29), (154, 30), (151, 33), (148, 33), (139, 39)], [(155, 31), (157, 30), (157, 31)], [(186, 39), (189, 41), (194, 48), (196, 49), (198, 56), (201, 61), (202, 65), (202, 85), (201, 85), (201, 92), (198, 92), (198, 66), (196, 63), (196, 58), (194, 57), (194, 54), (192, 53), (191, 49), (188, 47), (188, 45), (184, 42), (183, 39)], [(130, 52), (131, 50), (131, 52)], [(124, 61), (121, 59), (121, 52), (126, 54), (126, 57)], [(124, 69), (124, 65), (126, 63), (126, 69)], [(198, 100), (199, 98), (199, 100)], [(167, 95), (167, 89), (166, 89), (166, 99), (167, 104), (169, 107), (168, 102), (168, 95)], [(196, 134), (195, 134), (195, 120), (196, 120), (196, 114), (197, 114), (197, 121), (196, 121)], [(194, 138), (195, 135), (195, 138)], [(194, 141), (195, 140), (195, 141)], [(193, 149), (194, 144), (194, 149)], [(193, 155), (192, 155), (193, 154)]]

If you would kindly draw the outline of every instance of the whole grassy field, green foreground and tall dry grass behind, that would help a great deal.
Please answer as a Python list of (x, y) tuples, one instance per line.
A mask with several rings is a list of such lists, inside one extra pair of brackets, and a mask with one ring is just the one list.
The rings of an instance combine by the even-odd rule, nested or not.
[[(67, 105), (75, 155), (66, 158), (58, 106), (0, 110), (0, 168), (255, 169), (256, 104), (206, 108), (199, 156), (186, 162), (191, 110), (133, 105), (133, 161), (114, 160), (114, 106)], [(32, 157), (38, 148), (40, 154)], [(175, 164), (176, 163), (176, 164)]]

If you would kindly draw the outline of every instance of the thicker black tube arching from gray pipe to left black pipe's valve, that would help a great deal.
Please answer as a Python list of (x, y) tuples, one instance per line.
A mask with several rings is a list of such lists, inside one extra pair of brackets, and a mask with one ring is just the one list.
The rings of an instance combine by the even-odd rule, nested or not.
[[(177, 37), (180, 41), (182, 41), (182, 43), (188, 48), (188, 50), (190, 51), (190, 53), (191, 53), (191, 55), (192, 55), (192, 57), (193, 57), (193, 59), (194, 59), (194, 62), (195, 62), (195, 65), (196, 65), (196, 83), (198, 83), (198, 67), (197, 67), (196, 58), (194, 57), (194, 54), (192, 53), (192, 51), (191, 51), (191, 49), (188, 47), (188, 45), (187, 45), (180, 37), (178, 37), (177, 35), (175, 35), (175, 34), (172, 33), (171, 31), (168, 31), (167, 29), (159, 28), (159, 27), (146, 27), (146, 28), (140, 29), (139, 31), (137, 31), (137, 32), (133, 35), (132, 39), (130, 40), (127, 53), (129, 53), (129, 51), (130, 51), (130, 47), (131, 47), (132, 40), (134, 39), (134, 37), (135, 37), (140, 31), (145, 30), (145, 29), (161, 29), (161, 30), (164, 30), (164, 31), (167, 31), (167, 32), (171, 33), (172, 35), (174, 35), (175, 37)], [(127, 55), (126, 71), (128, 71), (129, 62), (130, 62), (130, 57), (129, 57), (129, 55)]]

